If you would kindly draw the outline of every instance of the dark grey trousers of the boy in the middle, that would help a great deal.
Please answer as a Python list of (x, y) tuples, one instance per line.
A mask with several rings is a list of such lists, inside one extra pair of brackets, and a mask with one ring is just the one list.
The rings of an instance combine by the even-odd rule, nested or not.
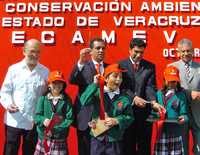
[(91, 155), (123, 155), (122, 142), (108, 142), (91, 138)]

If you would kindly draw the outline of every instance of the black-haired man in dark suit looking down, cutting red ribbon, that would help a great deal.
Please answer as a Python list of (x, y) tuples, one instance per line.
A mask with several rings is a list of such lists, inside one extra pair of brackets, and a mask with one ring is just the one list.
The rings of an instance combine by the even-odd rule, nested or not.
[[(150, 155), (152, 124), (146, 122), (152, 108), (161, 110), (156, 102), (155, 65), (143, 59), (146, 43), (141, 39), (130, 42), (130, 56), (120, 62), (123, 73), (121, 89), (127, 89), (133, 100), (135, 121), (124, 136), (124, 155)], [(147, 101), (151, 101), (147, 104)]]

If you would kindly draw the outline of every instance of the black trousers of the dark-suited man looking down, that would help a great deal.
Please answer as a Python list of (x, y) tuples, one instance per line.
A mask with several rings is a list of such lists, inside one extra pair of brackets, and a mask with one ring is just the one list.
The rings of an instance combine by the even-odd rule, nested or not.
[(124, 134), (124, 155), (150, 155), (151, 132), (151, 123), (133, 122)]

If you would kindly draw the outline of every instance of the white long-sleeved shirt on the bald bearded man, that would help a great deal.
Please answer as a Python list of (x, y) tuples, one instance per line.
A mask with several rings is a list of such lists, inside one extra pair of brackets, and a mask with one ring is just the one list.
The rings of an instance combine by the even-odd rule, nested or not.
[(5, 109), (14, 103), (19, 111), (5, 112), (6, 125), (26, 130), (32, 129), (35, 105), (46, 90), (48, 73), (48, 69), (39, 63), (30, 71), (25, 60), (8, 68), (1, 88), (0, 101)]

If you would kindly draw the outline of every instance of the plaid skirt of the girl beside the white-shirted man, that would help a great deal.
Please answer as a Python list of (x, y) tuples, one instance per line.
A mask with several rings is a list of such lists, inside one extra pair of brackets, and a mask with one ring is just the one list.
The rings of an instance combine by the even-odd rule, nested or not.
[(43, 142), (38, 139), (34, 155), (68, 155), (66, 140), (47, 140), (49, 152), (45, 153)]

